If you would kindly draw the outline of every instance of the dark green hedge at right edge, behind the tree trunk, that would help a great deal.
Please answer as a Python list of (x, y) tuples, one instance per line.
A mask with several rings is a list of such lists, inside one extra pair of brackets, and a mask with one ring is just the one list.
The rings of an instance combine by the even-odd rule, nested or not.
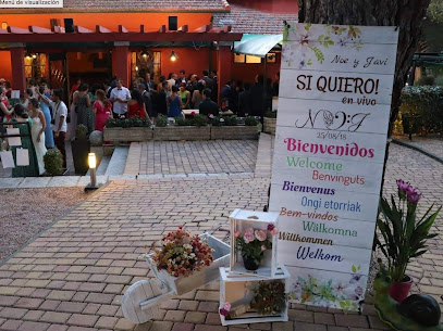
[(418, 133), (443, 132), (443, 87), (405, 87), (395, 127), (397, 133), (405, 115), (419, 116), (415, 119)]

